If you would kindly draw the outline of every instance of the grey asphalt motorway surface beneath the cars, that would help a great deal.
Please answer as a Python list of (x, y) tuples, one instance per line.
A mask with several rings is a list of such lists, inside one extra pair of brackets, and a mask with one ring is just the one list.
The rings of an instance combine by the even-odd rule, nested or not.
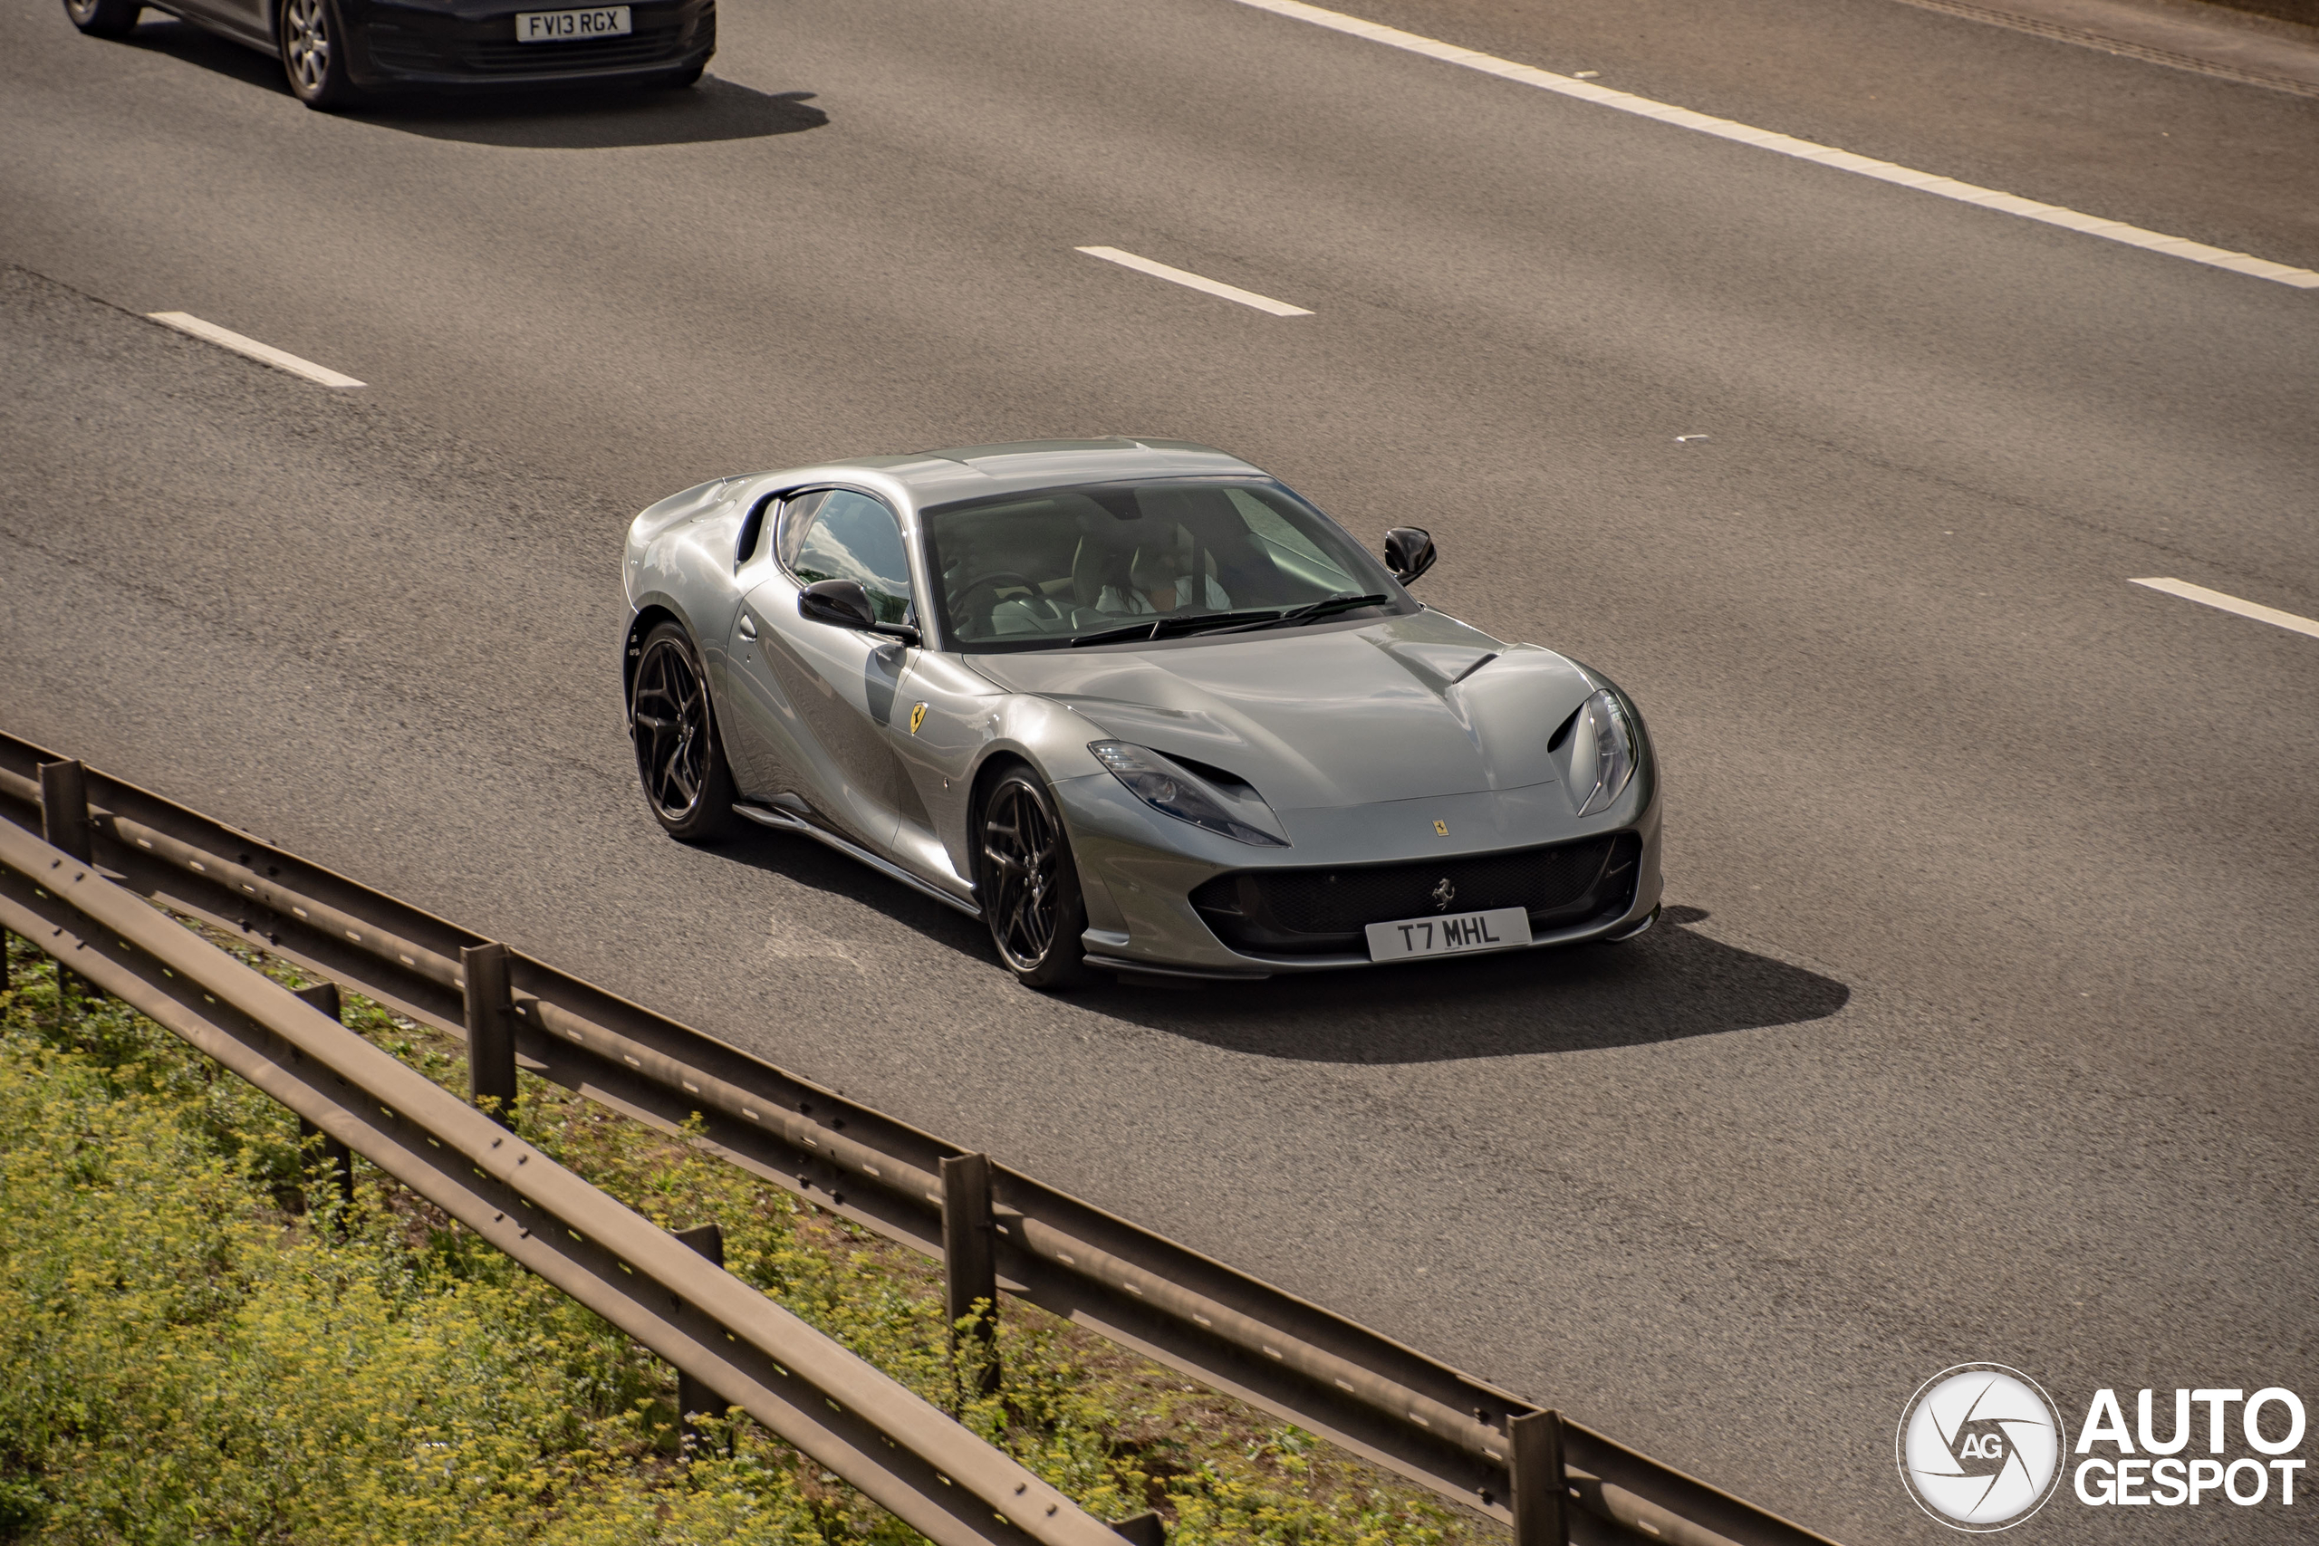
[[(2073, 1423), (2096, 1386), (2319, 1395), (2319, 640), (2127, 584), (2319, 614), (2319, 292), (1227, 0), (721, 21), (686, 97), (322, 118), (179, 25), (0, 14), (0, 725), (1848, 1541), (1948, 1539), (1892, 1423), (1950, 1363)], [(1813, 83), (1939, 23), (1955, 111), (1848, 148), (1999, 181), (1971, 158), (2034, 134), (1976, 137), (1969, 81), (2027, 72), (2076, 148), (1999, 185), (2319, 257), (2245, 151), (2136, 209), (2085, 151), (2131, 70), (2296, 188), (2307, 100), (1906, 7), (1742, 21), (1827, 67), (1686, 104), (1876, 123)], [(1684, 102), (1716, 60), (1667, 58), (1609, 83)], [(1108, 431), (1429, 526), (1426, 600), (1616, 674), (1667, 767), (1670, 925), (1041, 999), (819, 848), (659, 834), (612, 654), (638, 505)], [(2034, 1532), (2305, 1518), (2064, 1495)]]

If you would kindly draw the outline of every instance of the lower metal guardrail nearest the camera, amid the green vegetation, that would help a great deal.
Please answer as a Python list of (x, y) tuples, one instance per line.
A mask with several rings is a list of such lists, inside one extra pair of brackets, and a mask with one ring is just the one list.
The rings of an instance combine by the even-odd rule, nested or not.
[(902, 1384), (95, 865), (0, 823), (0, 925), (218, 1059), (942, 1546), (1120, 1537)]

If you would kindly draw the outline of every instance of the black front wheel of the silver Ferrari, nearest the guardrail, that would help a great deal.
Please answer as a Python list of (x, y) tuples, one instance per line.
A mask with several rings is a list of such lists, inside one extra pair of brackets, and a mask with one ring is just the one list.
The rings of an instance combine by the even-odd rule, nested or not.
[(1025, 987), (1085, 983), (1078, 865), (1053, 797), (1027, 767), (1002, 774), (983, 800), (981, 872), (983, 920), (1006, 969)]

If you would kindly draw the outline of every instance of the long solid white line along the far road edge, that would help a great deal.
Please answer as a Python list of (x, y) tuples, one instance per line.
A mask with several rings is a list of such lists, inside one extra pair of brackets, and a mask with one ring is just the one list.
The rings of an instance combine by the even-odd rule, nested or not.
[(1960, 204), (1978, 204), (1980, 209), (1994, 209), (2008, 216), (2020, 216), (2022, 220), (2043, 220), (2045, 225), (2059, 225), (2062, 229), (2082, 232), (2087, 236), (2101, 236), (2103, 241), (2122, 241), (2129, 248), (2147, 248), (2152, 253), (2166, 253), (2168, 257), (2187, 257), (2189, 262), (2212, 264), (2215, 269), (2229, 269), (2233, 274), (2252, 274), (2254, 278), (2277, 280), (2280, 285), (2293, 285), (2296, 290), (2319, 290), (2319, 274), (2312, 274), (2310, 269), (2289, 269), (2287, 264), (2270, 262), (2266, 257), (2247, 257), (2245, 253), (2210, 248), (2205, 243), (2184, 241), (2180, 236), (2166, 236), (2161, 232), (2145, 232), (2138, 225), (2103, 220), (2101, 216), (2085, 216), (2078, 213), (2076, 209), (2062, 209), (2059, 204), (2038, 204), (2036, 199), (2022, 199), (2011, 192), (1997, 192), (1994, 188), (1976, 188), (1971, 183), (1960, 183), (1948, 176), (1934, 176), (1929, 172), (1911, 172), (1909, 167), (1897, 167), (1888, 160), (1853, 155), (1851, 151), (1837, 151), (1834, 146), (1818, 146), (1811, 144), (1809, 139), (1793, 139), (1790, 134), (1753, 130), (1744, 123), (1732, 123), (1730, 118), (1709, 118), (1707, 114), (1695, 114), (1688, 107), (1672, 107), (1667, 102), (1653, 102), (1651, 97), (1637, 97), (1623, 90), (1612, 90), (1609, 86), (1595, 86), (1593, 81), (1579, 81), (1568, 74), (1535, 70), (1533, 65), (1517, 65), (1514, 60), (1496, 58), (1493, 53), (1475, 53), (1473, 49), (1459, 49), (1456, 44), (1419, 37), (1417, 32), (1401, 32), (1398, 28), (1384, 28), (1377, 25), (1375, 21), (1361, 21), (1359, 16), (1324, 12), (1317, 5), (1303, 5), (1301, 0), (1236, 0), (1236, 2), (1255, 7), (1259, 12), (1273, 12), (1278, 16), (1310, 21), (1313, 25), (1329, 28), (1331, 32), (1350, 32), (1352, 37), (1366, 37), (1368, 42), (1384, 44), (1387, 49), (1424, 53), (1426, 58), (1438, 58), (1445, 65), (1463, 65), (1466, 70), (1480, 70), (1482, 74), (1519, 81), (1521, 86), (1554, 90), (1565, 97), (1577, 97), (1579, 102), (1614, 107), (1621, 114), (1635, 114), (1640, 118), (1658, 118), (1660, 123), (1672, 123), (1679, 130), (1714, 134), (1716, 139), (1735, 139), (1744, 146), (1755, 146), (1758, 151), (1776, 151), (1781, 155), (1793, 155), (1797, 160), (1811, 160), (1820, 162), (1823, 167), (1834, 167), (1837, 172), (1855, 172), (1860, 176), (1874, 176), (1881, 183), (1899, 183), (1902, 188), (1915, 188), (1918, 192), (1932, 192), (1943, 199), (1957, 199)]

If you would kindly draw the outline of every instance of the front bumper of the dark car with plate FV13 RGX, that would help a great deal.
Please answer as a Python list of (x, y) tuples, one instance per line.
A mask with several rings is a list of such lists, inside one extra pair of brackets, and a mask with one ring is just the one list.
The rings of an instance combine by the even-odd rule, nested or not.
[(561, 86), (691, 72), (717, 51), (717, 0), (628, 5), (626, 37), (515, 42), (517, 12), (577, 9), (568, 0), (394, 5), (339, 0), (357, 86)]

